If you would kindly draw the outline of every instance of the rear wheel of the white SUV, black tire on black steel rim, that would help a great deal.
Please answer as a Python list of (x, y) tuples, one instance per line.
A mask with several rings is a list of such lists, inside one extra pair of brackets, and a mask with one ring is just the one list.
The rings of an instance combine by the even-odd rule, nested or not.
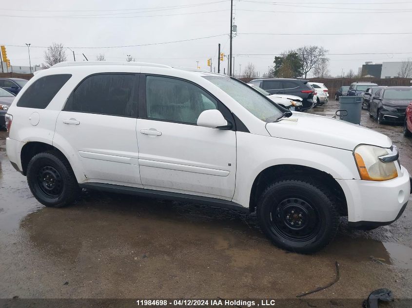
[(63, 207), (78, 196), (78, 182), (69, 162), (55, 152), (41, 152), (30, 160), (27, 182), (33, 196), (45, 206)]

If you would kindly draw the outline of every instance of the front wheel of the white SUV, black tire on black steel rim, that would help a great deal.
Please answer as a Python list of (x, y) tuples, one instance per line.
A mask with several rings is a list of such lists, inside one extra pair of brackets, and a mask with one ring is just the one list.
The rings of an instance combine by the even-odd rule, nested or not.
[(257, 205), (263, 232), (283, 249), (312, 254), (327, 246), (339, 228), (330, 192), (309, 179), (271, 184)]

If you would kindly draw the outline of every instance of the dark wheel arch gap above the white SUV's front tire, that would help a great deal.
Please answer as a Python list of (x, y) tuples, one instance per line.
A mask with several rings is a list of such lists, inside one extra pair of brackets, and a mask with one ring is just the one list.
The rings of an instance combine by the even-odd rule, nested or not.
[(348, 205), (345, 193), (334, 177), (325, 171), (297, 164), (279, 164), (263, 169), (256, 176), (255, 181), (252, 184), (249, 200), (249, 212), (255, 212), (260, 194), (268, 185), (270, 185), (270, 183), (279, 178), (290, 176), (306, 177), (314, 181), (321, 181), (322, 184), (333, 193), (335, 199), (337, 200), (339, 214), (341, 216), (348, 215)]

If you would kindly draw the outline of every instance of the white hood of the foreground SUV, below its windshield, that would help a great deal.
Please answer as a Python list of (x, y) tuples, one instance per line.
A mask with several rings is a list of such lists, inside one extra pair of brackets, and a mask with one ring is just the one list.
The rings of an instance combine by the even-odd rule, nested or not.
[(387, 136), (372, 129), (325, 116), (294, 111), (279, 122), (267, 123), (272, 137), (353, 150), (359, 144), (391, 147)]

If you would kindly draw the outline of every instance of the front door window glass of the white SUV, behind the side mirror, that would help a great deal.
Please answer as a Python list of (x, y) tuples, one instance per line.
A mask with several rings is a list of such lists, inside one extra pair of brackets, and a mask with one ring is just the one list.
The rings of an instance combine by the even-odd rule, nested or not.
[(197, 124), (200, 113), (217, 109), (217, 101), (196, 85), (176, 78), (146, 76), (149, 119)]

